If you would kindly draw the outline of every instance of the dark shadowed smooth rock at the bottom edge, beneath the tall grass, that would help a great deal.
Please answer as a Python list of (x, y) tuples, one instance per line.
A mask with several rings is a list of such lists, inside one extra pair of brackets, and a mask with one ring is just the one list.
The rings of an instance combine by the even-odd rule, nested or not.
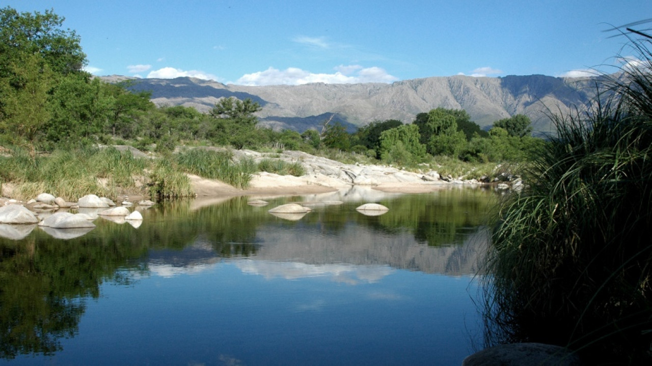
[(462, 366), (580, 366), (580, 357), (567, 348), (543, 343), (512, 343), (475, 352)]

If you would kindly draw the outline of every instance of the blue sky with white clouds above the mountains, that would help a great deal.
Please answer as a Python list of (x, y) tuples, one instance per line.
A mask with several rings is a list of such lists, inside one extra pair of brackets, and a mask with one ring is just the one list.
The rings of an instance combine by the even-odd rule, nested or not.
[(93, 74), (239, 85), (576, 76), (629, 56), (606, 29), (652, 18), (651, 0), (3, 3), (64, 16)]

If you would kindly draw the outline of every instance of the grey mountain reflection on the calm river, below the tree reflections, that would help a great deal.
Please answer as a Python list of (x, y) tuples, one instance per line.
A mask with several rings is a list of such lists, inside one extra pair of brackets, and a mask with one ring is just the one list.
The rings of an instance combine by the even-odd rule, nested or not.
[(368, 227), (349, 225), (336, 236), (317, 229), (289, 231), (261, 227), (255, 259), (288, 260), (306, 264), (387, 264), (394, 268), (446, 275), (477, 274), (488, 231), (470, 233), (460, 245), (430, 247), (418, 244), (410, 232), (387, 234)]

